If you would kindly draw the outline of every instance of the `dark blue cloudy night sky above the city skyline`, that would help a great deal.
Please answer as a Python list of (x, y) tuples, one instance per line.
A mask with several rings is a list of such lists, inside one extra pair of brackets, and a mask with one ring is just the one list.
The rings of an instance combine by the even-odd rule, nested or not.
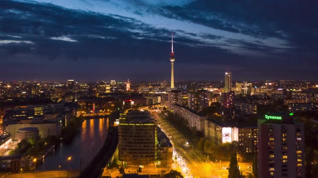
[(0, 0), (0, 81), (315, 80), (318, 0)]

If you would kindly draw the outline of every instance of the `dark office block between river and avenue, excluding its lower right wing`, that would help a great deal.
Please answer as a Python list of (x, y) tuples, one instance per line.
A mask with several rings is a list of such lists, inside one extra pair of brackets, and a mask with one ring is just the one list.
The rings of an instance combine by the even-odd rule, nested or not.
[(155, 164), (157, 124), (148, 111), (121, 114), (119, 119), (119, 160), (129, 165)]

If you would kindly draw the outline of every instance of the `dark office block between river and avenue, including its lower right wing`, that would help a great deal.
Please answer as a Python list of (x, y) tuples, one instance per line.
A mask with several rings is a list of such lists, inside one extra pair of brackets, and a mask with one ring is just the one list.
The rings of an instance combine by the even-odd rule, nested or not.
[(173, 148), (149, 111), (132, 110), (119, 118), (119, 160), (128, 166), (171, 168)]

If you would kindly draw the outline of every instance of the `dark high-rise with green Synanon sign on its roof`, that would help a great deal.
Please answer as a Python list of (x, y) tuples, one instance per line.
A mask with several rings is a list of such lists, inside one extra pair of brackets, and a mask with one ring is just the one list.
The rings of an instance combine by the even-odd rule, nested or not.
[(304, 124), (290, 114), (258, 119), (258, 177), (305, 178)]

